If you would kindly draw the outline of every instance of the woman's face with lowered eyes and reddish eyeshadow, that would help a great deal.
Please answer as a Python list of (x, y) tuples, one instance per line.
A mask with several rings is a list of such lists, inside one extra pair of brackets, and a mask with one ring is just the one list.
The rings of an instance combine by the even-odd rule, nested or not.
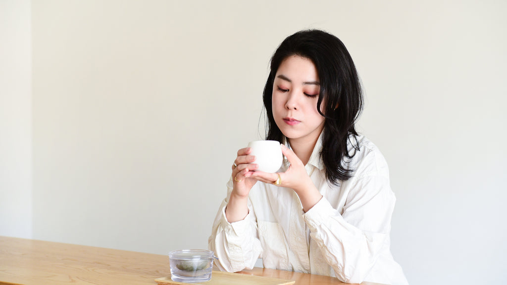
[(275, 123), (289, 142), (315, 143), (320, 135), (325, 118), (317, 111), (319, 91), (317, 69), (311, 60), (290, 56), (282, 61), (271, 101)]

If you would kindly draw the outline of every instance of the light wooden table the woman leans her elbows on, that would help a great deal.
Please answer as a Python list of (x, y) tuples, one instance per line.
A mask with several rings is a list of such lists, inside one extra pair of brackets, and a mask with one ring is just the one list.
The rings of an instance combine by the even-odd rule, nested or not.
[[(291, 279), (301, 285), (346, 284), (329, 276), (265, 268), (239, 273)], [(0, 236), (0, 284), (156, 285), (156, 278), (169, 275), (166, 255)]]

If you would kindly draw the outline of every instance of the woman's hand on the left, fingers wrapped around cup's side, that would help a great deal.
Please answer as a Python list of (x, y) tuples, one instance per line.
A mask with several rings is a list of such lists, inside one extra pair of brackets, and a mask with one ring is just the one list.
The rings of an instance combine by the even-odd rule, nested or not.
[(256, 184), (257, 179), (251, 178), (251, 174), (259, 166), (253, 164), (256, 157), (250, 155), (251, 147), (246, 147), (238, 150), (236, 160), (232, 166), (232, 178), (234, 183), (234, 189), (232, 194), (238, 197), (247, 197), (250, 189)]

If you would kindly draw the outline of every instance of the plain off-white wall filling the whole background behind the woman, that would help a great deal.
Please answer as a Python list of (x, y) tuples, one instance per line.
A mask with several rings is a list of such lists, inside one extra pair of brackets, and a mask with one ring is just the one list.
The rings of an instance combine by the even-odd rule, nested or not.
[(340, 37), (411, 284), (507, 283), (507, 2), (0, 0), (0, 235), (206, 248), (269, 58)]

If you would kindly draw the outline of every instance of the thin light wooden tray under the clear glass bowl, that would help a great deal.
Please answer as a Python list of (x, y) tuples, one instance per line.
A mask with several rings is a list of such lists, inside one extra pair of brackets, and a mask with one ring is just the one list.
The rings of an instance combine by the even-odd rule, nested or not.
[[(189, 283), (176, 282), (171, 280), (171, 277), (163, 277), (155, 279), (155, 282), (166, 284), (187, 285)], [(276, 279), (271, 277), (246, 275), (241, 273), (229, 273), (222, 271), (214, 271), (211, 273), (211, 280), (192, 284), (205, 284), (205, 285), (291, 285), (296, 283), (294, 280)]]

